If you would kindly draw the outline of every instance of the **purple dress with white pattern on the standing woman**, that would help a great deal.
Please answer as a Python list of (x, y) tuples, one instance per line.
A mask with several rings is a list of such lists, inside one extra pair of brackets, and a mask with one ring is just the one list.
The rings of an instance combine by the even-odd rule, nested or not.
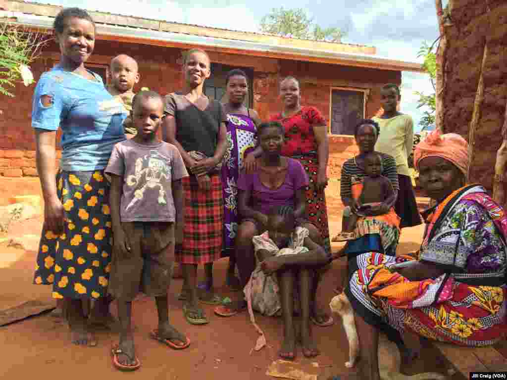
[(222, 255), (230, 256), (238, 230), (238, 176), (243, 160), (257, 146), (257, 128), (246, 115), (227, 115), (227, 151), (222, 164), (224, 194), (224, 245)]

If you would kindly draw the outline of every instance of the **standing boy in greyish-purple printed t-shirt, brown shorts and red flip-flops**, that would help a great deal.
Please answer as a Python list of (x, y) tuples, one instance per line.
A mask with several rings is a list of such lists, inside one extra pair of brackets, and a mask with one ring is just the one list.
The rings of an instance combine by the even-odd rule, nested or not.
[[(158, 328), (151, 333), (173, 349), (189, 339), (169, 324), (167, 291), (174, 263), (174, 246), (183, 241), (183, 177), (187, 169), (178, 149), (157, 138), (163, 117), (162, 97), (140, 91), (132, 100), (131, 118), (137, 134), (115, 145), (105, 172), (111, 174), (111, 216), (114, 259), (110, 293), (118, 299), (120, 342), (113, 363), (135, 370), (132, 300), (138, 291), (155, 297)], [(107, 284), (104, 284), (106, 286)]]

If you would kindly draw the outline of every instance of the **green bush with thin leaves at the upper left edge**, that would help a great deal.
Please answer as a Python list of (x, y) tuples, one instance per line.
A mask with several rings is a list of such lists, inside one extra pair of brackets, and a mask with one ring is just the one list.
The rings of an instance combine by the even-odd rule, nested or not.
[(22, 80), (33, 83), (29, 65), (49, 41), (49, 35), (13, 24), (0, 24), (0, 94), (14, 97), (11, 88)]

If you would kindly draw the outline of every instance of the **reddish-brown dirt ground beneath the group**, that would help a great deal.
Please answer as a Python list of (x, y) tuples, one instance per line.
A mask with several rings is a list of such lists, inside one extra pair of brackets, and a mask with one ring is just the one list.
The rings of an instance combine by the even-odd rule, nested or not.
[[(38, 184), (38, 181), (37, 181)], [(12, 196), (13, 191), (2, 187), (0, 198)], [(37, 186), (17, 184), (16, 195), (37, 194)], [(334, 235), (340, 229), (341, 202), (328, 196), (330, 230)], [(15, 223), (12, 235), (38, 235), (42, 228), (42, 218)], [(422, 236), (422, 227), (405, 229), (402, 233), (399, 252), (416, 250)], [(37, 239), (26, 239), (26, 250), (7, 247), (0, 244), (0, 311), (20, 305), (30, 299), (50, 301), (50, 287), (31, 284)], [(334, 245), (338, 249), (340, 245)], [(344, 274), (344, 260), (335, 260), (332, 269), (325, 275), (318, 291), (317, 300), (329, 310), (328, 304), (333, 297), (333, 288)], [(222, 259), (215, 265), (215, 287), (223, 295), (231, 295), (224, 286), (227, 260)], [(201, 268), (202, 270), (202, 268)], [(202, 276), (202, 272), (200, 274)], [(142, 376), (150, 379), (187, 380), (205, 378), (209, 380), (234, 378), (265, 379), (267, 367), (277, 358), (280, 345), (281, 320), (256, 315), (258, 323), (264, 329), (268, 345), (260, 352), (250, 350), (255, 345), (257, 332), (251, 326), (247, 313), (223, 319), (215, 316), (212, 307), (203, 306), (210, 323), (193, 326), (184, 320), (181, 302), (176, 294), (182, 286), (182, 280), (171, 284), (169, 303), (170, 320), (191, 339), (191, 346), (183, 351), (173, 351), (155, 340), (149, 332), (156, 327), (157, 314), (154, 301), (141, 297), (134, 302), (133, 324), (140, 370), (135, 373), (117, 371), (112, 363), (110, 349), (117, 342), (114, 331), (99, 331), (98, 346), (81, 348), (71, 345), (67, 325), (43, 314), (0, 327), (0, 354), (4, 365), (0, 366), (0, 378), (39, 378), (50, 379), (54, 376), (71, 376), (74, 379), (90, 379), (107, 376), (108, 379), (125, 376)], [(116, 311), (114, 310), (115, 314)], [(336, 319), (336, 318), (335, 318)], [(321, 355), (313, 360), (303, 357), (299, 349), (297, 362), (308, 373), (325, 372), (347, 373), (344, 362), (348, 357), (348, 344), (341, 321), (331, 327), (314, 327)], [(435, 370), (434, 358), (424, 355), (414, 362), (412, 371)], [(312, 366), (319, 363), (319, 368)], [(332, 367), (331, 367), (332, 366)], [(428, 368), (429, 367), (429, 368)], [(320, 379), (320, 377), (319, 377)]]

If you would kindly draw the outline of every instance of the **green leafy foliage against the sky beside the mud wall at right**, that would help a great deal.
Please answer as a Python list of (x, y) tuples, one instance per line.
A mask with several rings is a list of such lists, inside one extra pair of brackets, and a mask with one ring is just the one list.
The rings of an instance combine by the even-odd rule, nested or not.
[[(438, 41), (438, 40), (437, 40)], [(436, 42), (437, 42), (436, 41)], [(431, 86), (433, 87), (433, 93), (426, 95), (420, 91), (415, 91), (415, 94), (419, 96), (419, 100), (417, 101), (417, 108), (426, 107), (423, 113), (423, 117), (419, 122), (419, 125), (422, 127), (421, 130), (426, 129), (430, 125), (435, 123), (435, 110), (437, 109), (436, 105), (436, 88), (435, 88), (435, 78), (437, 75), (437, 56), (433, 51), (435, 46), (434, 42), (431, 46), (429, 46), (426, 42), (424, 42), (419, 50), (418, 57), (424, 57), (424, 62), (422, 67), (429, 74), (429, 80), (431, 81)]]

